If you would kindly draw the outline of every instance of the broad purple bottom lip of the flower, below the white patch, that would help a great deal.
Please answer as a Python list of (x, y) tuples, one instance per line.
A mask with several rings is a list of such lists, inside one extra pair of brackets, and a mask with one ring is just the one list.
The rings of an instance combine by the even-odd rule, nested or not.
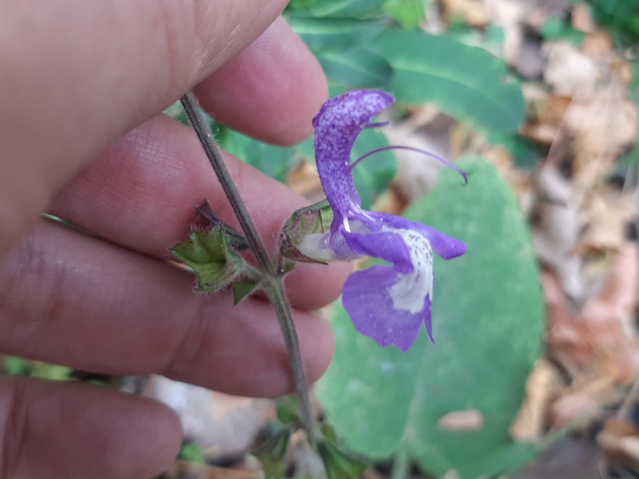
[(419, 336), (422, 323), (432, 340), (431, 299), (424, 298), (422, 307), (413, 312), (398, 308), (391, 294), (402, 275), (392, 266), (373, 266), (357, 271), (344, 285), (342, 302), (355, 329), (373, 338), (382, 347), (394, 344), (408, 351)]

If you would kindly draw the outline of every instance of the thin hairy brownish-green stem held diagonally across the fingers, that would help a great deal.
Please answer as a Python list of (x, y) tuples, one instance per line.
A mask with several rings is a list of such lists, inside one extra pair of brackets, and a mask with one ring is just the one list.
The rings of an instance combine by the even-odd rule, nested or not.
[(220, 181), (220, 185), (226, 193), (226, 197), (231, 203), (231, 207), (235, 212), (235, 216), (242, 226), (242, 230), (249, 243), (250, 250), (255, 255), (259, 269), (265, 275), (265, 287), (270, 298), (273, 308), (277, 313), (277, 319), (279, 320), (282, 334), (284, 335), (284, 342), (286, 343), (286, 350), (288, 351), (289, 362), (291, 364), (291, 370), (293, 372), (293, 380), (295, 381), (295, 392), (300, 400), (300, 408), (302, 409), (302, 420), (304, 421), (304, 429), (306, 430), (309, 441), (313, 441), (313, 416), (311, 410), (311, 400), (309, 398), (309, 386), (304, 374), (304, 367), (302, 366), (302, 354), (300, 353), (300, 343), (295, 330), (295, 324), (293, 324), (293, 317), (291, 316), (291, 308), (286, 300), (286, 294), (284, 294), (284, 285), (282, 284), (282, 277), (276, 271), (275, 265), (268, 257), (266, 248), (264, 247), (261, 239), (259, 238), (258, 231), (255, 229), (255, 225), (250, 219), (249, 212), (242, 201), (242, 197), (231, 179), (231, 175), (222, 160), (220, 151), (217, 148), (213, 133), (206, 123), (206, 119), (200, 110), (197, 98), (192, 91), (189, 91), (184, 95), (180, 102), (182, 107), (189, 118), (191, 126), (195, 130), (199, 141), (204, 148), (204, 152), (208, 157), (213, 171), (217, 175)]

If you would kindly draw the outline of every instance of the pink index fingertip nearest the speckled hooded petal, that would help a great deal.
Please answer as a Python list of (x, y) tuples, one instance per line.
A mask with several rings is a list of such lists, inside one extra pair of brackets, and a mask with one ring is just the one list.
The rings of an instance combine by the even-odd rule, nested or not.
[(318, 61), (279, 17), (247, 49), (196, 87), (213, 118), (273, 144), (312, 134), (312, 118), (328, 98)]

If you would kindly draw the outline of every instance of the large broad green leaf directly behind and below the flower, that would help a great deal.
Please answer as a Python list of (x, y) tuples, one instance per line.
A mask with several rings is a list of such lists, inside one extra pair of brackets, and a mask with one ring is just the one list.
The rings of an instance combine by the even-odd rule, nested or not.
[[(410, 220), (463, 239), (466, 255), (435, 261), (433, 329), (407, 353), (360, 335), (339, 305), (337, 351), (319, 399), (337, 434), (356, 453), (387, 460), (408, 453), (436, 477), (449, 469), (475, 479), (512, 469), (508, 428), (541, 354), (544, 303), (527, 224), (492, 165), (459, 162), (462, 186), (444, 171), (439, 185), (408, 210)], [(477, 409), (475, 431), (438, 427), (453, 411)], [(532, 446), (527, 446), (528, 450)], [(521, 465), (521, 464), (518, 464)]]

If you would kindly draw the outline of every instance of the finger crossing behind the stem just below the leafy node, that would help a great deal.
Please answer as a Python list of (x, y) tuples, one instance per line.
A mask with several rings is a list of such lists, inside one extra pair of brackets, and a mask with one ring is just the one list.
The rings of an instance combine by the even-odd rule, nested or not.
[[(0, 269), (0, 351), (105, 374), (159, 372), (238, 395), (292, 390), (273, 307), (233, 307), (233, 294), (194, 294), (164, 261), (55, 224), (38, 227)], [(330, 325), (295, 312), (307, 377), (328, 367)]]

